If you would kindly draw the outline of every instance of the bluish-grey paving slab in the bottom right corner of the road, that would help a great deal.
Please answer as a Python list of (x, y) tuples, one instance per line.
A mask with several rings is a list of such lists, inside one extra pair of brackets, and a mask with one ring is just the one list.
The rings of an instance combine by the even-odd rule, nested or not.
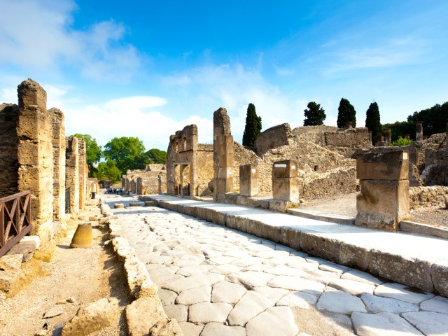
[(448, 314), (414, 311), (401, 316), (426, 336), (448, 335)]

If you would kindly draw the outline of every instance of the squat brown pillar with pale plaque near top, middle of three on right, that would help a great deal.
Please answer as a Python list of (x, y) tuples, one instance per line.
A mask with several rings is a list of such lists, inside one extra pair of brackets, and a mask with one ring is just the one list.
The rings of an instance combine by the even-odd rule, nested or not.
[(274, 162), (272, 166), (272, 196), (274, 200), (299, 202), (299, 179), (295, 161)]

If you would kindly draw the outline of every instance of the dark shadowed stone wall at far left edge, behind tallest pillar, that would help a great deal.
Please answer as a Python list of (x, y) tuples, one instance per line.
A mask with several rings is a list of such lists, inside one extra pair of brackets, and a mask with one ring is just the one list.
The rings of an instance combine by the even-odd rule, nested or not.
[(15, 104), (0, 104), (0, 198), (18, 193), (19, 108)]

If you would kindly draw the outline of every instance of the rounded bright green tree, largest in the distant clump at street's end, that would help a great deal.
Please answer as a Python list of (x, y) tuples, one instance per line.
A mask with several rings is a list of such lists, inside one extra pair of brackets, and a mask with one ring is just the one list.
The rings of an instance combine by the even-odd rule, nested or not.
[(103, 153), (106, 160), (116, 162), (120, 172), (126, 174), (127, 169), (139, 169), (135, 159), (145, 153), (145, 146), (139, 138), (113, 138), (104, 146)]

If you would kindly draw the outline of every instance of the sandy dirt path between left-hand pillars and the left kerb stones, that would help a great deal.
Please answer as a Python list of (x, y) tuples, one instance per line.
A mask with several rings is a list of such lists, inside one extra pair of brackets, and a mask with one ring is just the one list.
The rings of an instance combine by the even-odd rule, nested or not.
[[(99, 215), (97, 207), (80, 216), (88, 219), (94, 214)], [(1, 336), (60, 335), (62, 326), (80, 306), (102, 297), (117, 297), (121, 307), (128, 303), (121, 267), (102, 246), (103, 232), (97, 222), (91, 222), (92, 248), (69, 248), (78, 223), (85, 221), (69, 221), (67, 235), (56, 239), (52, 251), (36, 253), (35, 258), (22, 264), (21, 288), (16, 293), (0, 296)], [(67, 302), (69, 297), (73, 297), (73, 303)], [(43, 318), (55, 307), (63, 313)], [(125, 335), (124, 328), (122, 314), (120, 325), (92, 335)]]

